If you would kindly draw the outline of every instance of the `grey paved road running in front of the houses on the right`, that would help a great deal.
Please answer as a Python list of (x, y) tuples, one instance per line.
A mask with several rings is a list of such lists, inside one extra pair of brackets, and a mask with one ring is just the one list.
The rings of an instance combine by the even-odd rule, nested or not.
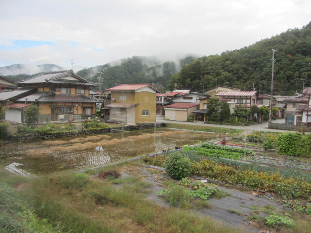
[[(208, 127), (220, 127), (220, 128), (230, 128), (230, 129), (240, 129), (240, 130), (252, 130), (252, 131), (272, 131), (272, 132), (294, 132), (290, 130), (277, 130), (277, 129), (269, 129), (268, 122), (262, 124), (248, 125), (248, 126), (240, 126), (240, 125), (217, 125), (217, 124), (205, 124), (200, 122), (184, 122), (184, 121), (174, 121), (174, 120), (164, 120), (163, 116), (156, 116), (156, 122), (160, 123), (175, 123), (175, 124), (184, 124), (184, 125), (204, 125)], [(274, 120), (273, 123), (282, 124), (285, 123), (285, 119), (277, 119)]]

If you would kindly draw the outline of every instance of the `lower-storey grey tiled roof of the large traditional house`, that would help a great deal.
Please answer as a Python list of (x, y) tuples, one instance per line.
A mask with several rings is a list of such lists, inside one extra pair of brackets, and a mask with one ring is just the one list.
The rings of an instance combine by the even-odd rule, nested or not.
[[(26, 99), (27, 98), (27, 99)], [(53, 92), (36, 92), (16, 100), (17, 102), (73, 102), (73, 103), (100, 103), (101, 100), (83, 95), (55, 95)]]

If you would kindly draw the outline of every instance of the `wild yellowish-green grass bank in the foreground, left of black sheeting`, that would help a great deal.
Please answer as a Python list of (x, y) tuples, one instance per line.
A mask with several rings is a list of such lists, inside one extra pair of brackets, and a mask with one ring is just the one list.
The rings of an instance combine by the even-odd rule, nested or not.
[(149, 185), (139, 179), (119, 181), (124, 186), (62, 171), (34, 178), (20, 194), (25, 203), (33, 203), (31, 211), (53, 227), (61, 223), (63, 232), (240, 232), (179, 208), (163, 209), (137, 190)]

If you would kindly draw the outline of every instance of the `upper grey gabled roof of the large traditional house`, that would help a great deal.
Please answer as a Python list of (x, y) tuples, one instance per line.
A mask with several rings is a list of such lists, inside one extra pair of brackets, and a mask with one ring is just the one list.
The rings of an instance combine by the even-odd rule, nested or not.
[(47, 72), (31, 77), (26, 80), (15, 82), (18, 85), (22, 84), (39, 84), (39, 83), (52, 83), (52, 84), (71, 84), (71, 85), (84, 85), (84, 86), (98, 86), (99, 84), (92, 83), (75, 74), (73, 70)]

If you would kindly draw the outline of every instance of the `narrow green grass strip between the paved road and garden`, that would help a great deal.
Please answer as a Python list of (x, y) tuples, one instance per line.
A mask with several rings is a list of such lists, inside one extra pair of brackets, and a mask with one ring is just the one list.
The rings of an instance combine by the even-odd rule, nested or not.
[(174, 123), (166, 123), (167, 128), (174, 129), (186, 129), (186, 130), (195, 130), (195, 131), (206, 131), (206, 132), (214, 132), (214, 133), (229, 133), (229, 135), (242, 133), (244, 130), (239, 129), (230, 129), (223, 127), (208, 127), (201, 125), (186, 125), (186, 124), (174, 124)]

